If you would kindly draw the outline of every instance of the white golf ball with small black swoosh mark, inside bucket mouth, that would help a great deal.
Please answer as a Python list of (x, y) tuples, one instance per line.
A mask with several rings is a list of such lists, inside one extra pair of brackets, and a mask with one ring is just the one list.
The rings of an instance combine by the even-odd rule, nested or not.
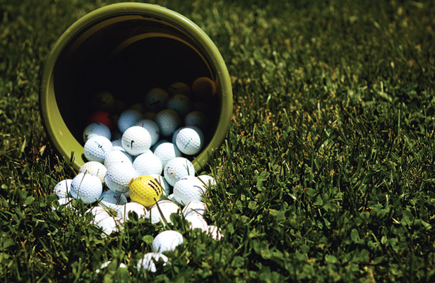
[(122, 135), (122, 147), (131, 155), (140, 155), (151, 147), (151, 136), (145, 128), (132, 126)]

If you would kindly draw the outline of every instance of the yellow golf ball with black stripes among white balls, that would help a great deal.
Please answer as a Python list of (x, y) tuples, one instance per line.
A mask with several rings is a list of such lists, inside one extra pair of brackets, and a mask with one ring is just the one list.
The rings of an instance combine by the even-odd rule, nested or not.
[(141, 175), (130, 181), (129, 194), (134, 202), (151, 206), (160, 199), (162, 187), (153, 176)]

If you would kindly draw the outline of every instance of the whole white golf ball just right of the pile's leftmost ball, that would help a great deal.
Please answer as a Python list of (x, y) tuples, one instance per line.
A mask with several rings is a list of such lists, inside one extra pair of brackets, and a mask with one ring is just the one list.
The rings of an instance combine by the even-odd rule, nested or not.
[(94, 174), (80, 173), (71, 181), (71, 196), (83, 200), (83, 203), (94, 203), (101, 193), (102, 183)]

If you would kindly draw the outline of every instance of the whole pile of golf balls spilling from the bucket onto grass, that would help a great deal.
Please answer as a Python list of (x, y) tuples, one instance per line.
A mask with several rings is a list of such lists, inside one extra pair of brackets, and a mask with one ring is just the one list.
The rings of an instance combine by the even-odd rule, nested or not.
[[(88, 162), (73, 179), (61, 180), (53, 188), (59, 207), (73, 208), (71, 200), (89, 204), (86, 213), (92, 214), (92, 224), (104, 236), (120, 231), (132, 213), (162, 224), (164, 231), (153, 241), (154, 252), (137, 263), (139, 272), (155, 272), (159, 260), (169, 264), (162, 253), (183, 243), (183, 235), (167, 227), (173, 213), (184, 217), (190, 229), (200, 229), (215, 240), (222, 238), (220, 229), (206, 222), (207, 207), (202, 201), (215, 179), (196, 176), (190, 161), (203, 149), (204, 131), (208, 131), (207, 110), (195, 106), (193, 98), (201, 103), (201, 96), (210, 99), (215, 91), (207, 85), (210, 79), (198, 80), (192, 88), (181, 82), (167, 90), (153, 88), (143, 102), (129, 109), (110, 92), (97, 92), (91, 99), (95, 112), (83, 128)], [(119, 115), (114, 114), (117, 111)]]

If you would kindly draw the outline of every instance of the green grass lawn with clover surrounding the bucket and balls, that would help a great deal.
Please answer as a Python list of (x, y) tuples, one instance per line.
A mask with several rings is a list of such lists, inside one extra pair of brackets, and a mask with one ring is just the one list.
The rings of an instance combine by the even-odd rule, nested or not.
[(56, 40), (114, 2), (0, 2), (3, 282), (435, 281), (434, 3), (152, 1), (215, 42), (234, 112), (207, 169), (218, 182), (208, 221), (224, 239), (174, 217), (184, 245), (143, 275), (136, 263), (161, 227), (138, 219), (102, 237), (52, 211), (52, 188), (75, 172), (38, 108)]

